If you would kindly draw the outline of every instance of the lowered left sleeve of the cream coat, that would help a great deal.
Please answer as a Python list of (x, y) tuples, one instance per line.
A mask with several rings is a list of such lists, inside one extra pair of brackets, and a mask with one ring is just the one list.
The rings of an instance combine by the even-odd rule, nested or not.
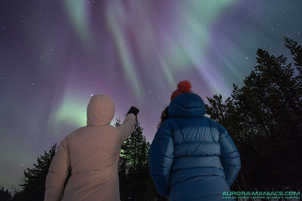
[(50, 164), (46, 177), (46, 190), (44, 201), (59, 201), (62, 199), (64, 183), (69, 173), (70, 157), (68, 140), (65, 138)]

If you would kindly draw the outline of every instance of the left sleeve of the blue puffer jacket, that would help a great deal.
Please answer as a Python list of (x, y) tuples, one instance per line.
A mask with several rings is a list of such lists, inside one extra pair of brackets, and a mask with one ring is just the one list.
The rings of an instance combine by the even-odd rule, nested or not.
[(174, 143), (172, 130), (162, 124), (157, 130), (149, 148), (149, 172), (156, 190), (162, 196), (169, 196), (169, 181), (174, 160)]

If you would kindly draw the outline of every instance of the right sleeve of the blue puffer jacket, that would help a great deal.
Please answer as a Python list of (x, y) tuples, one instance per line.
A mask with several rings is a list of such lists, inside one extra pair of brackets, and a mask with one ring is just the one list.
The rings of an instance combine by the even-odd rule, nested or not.
[(226, 182), (231, 186), (236, 179), (241, 167), (240, 156), (236, 145), (227, 130), (219, 125), (220, 161), (226, 177)]

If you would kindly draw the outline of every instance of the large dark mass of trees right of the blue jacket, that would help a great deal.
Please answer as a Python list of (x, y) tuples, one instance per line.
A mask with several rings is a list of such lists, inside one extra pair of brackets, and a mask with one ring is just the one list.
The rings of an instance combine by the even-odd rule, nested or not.
[(236, 191), (302, 189), (302, 49), (284, 41), (296, 73), (283, 55), (258, 49), (258, 64), (240, 89), (233, 84), (224, 102), (207, 97), (207, 114), (226, 127), (241, 156)]

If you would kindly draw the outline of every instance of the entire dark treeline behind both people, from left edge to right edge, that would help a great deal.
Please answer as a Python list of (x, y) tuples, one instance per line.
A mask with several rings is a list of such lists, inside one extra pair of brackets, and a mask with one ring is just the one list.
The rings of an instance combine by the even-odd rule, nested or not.
[[(258, 49), (257, 65), (244, 85), (233, 84), (225, 101), (207, 97), (207, 114), (227, 128), (241, 156), (242, 168), (233, 191), (300, 191), (302, 188), (302, 48), (285, 38), (293, 55), (294, 67), (283, 55), (275, 57)], [(284, 49), (286, 49), (284, 48)], [(120, 125), (117, 119), (115, 126)], [(160, 196), (149, 175), (150, 143), (138, 121), (130, 137), (121, 146), (118, 174), (120, 199), (168, 200)], [(34, 168), (24, 171), (21, 188), (12, 195), (0, 186), (0, 200), (42, 201), (49, 165), (56, 152), (40, 155)], [(286, 199), (285, 199), (286, 200)]]

